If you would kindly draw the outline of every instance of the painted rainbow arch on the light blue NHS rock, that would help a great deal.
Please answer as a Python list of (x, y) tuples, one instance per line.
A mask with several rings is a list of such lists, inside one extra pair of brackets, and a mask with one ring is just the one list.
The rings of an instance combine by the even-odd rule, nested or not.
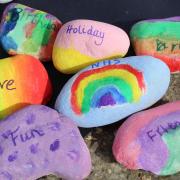
[(71, 88), (71, 106), (81, 115), (91, 108), (137, 102), (144, 90), (142, 72), (127, 64), (104, 66), (76, 78)]

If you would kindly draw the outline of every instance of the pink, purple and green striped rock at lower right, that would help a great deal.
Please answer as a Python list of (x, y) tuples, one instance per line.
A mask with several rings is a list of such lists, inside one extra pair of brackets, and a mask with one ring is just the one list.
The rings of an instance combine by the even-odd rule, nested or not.
[(131, 116), (119, 128), (113, 144), (118, 162), (129, 169), (158, 175), (180, 171), (180, 101)]

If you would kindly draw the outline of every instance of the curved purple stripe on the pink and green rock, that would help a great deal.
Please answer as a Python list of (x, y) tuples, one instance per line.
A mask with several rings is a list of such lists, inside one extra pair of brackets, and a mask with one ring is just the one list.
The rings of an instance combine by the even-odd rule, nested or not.
[(156, 117), (138, 134), (141, 153), (138, 159), (140, 166), (147, 171), (159, 173), (168, 161), (168, 149), (162, 136), (180, 126), (180, 111)]

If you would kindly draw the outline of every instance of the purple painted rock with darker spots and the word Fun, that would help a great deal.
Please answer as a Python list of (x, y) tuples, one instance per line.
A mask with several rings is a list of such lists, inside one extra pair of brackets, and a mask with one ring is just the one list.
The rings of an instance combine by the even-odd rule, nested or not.
[(0, 179), (89, 175), (91, 159), (77, 126), (55, 110), (28, 106), (0, 122)]

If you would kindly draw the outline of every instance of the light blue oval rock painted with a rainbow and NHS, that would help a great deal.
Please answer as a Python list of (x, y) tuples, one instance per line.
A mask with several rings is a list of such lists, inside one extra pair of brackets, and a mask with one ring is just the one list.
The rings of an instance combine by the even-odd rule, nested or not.
[(81, 127), (111, 124), (157, 102), (169, 81), (166, 64), (150, 56), (105, 60), (72, 77), (55, 108)]

